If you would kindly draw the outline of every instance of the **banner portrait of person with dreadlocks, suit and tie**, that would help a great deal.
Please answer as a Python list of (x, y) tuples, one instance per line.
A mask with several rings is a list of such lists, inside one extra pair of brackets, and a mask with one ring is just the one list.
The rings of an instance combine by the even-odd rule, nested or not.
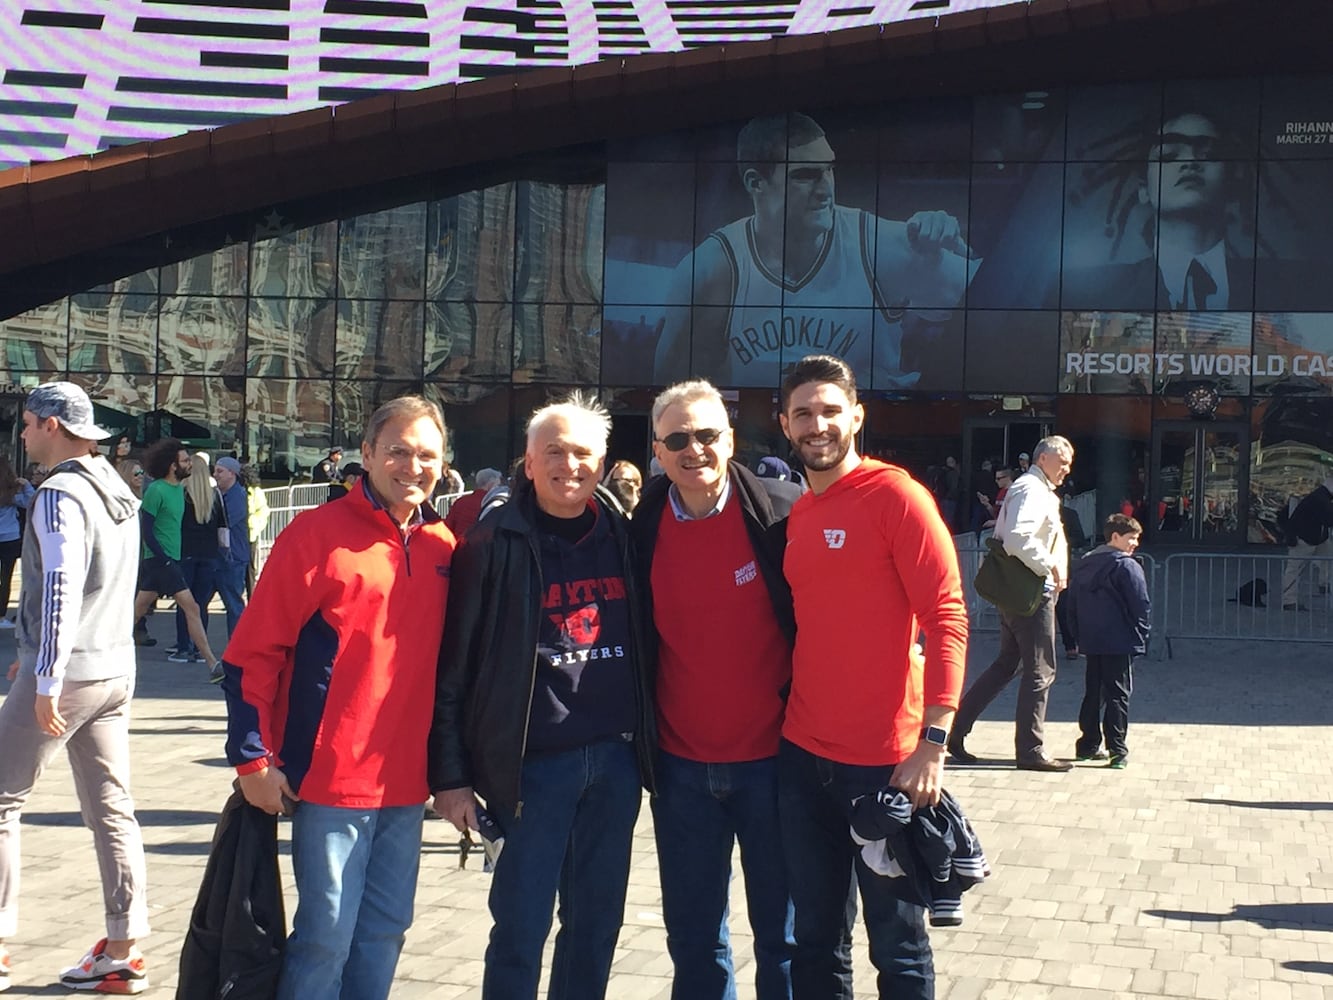
[(1062, 308), (1253, 308), (1253, 109), (1222, 99), (1168, 100), (1160, 125), (1106, 136), (1106, 161), (1069, 165)]

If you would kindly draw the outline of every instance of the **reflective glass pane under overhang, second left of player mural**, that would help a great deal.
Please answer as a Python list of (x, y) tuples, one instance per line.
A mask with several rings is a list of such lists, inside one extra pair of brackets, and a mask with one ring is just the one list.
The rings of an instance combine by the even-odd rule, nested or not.
[(513, 299), (515, 184), (427, 207), (427, 299)]

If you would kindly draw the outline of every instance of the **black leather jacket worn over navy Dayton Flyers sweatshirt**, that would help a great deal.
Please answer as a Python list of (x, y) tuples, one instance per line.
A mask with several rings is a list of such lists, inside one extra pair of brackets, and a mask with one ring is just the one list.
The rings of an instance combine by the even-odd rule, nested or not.
[[(635, 751), (644, 787), (652, 792), (657, 717), (645, 655), (645, 604), (628, 524), (601, 488), (596, 501), (597, 516), (609, 519), (625, 572), (639, 715)], [(453, 552), (427, 749), (432, 793), (471, 785), (492, 809), (521, 805), (543, 592), (536, 493), (523, 477), (509, 501), (477, 521)]]

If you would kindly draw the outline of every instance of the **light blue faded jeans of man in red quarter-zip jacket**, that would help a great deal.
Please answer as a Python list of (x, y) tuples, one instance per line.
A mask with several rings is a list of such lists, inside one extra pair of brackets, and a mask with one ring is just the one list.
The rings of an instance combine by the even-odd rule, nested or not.
[(388, 997), (412, 925), (423, 815), (421, 805), (296, 807), (297, 900), (279, 1000)]

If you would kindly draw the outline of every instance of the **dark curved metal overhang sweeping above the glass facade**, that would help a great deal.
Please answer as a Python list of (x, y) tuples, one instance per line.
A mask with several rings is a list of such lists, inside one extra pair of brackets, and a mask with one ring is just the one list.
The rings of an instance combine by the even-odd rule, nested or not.
[(0, 285), (273, 204), (753, 113), (1320, 72), (1320, 37), (1329, 0), (1030, 0), (385, 93), (3, 171)]

